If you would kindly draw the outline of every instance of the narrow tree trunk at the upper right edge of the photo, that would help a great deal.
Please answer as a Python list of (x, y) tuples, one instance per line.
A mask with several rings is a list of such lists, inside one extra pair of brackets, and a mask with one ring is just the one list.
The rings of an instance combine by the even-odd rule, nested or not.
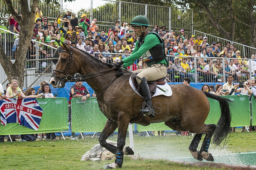
[(251, 25), (251, 46), (256, 48), (256, 20), (253, 17), (253, 4), (249, 0), (250, 25)]

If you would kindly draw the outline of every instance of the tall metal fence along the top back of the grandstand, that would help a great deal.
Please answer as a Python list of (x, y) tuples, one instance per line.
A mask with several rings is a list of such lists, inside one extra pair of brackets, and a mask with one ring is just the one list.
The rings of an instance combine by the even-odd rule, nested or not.
[[(20, 14), (19, 0), (13, 0), (14, 9)], [(64, 2), (59, 1), (60, 5), (53, 3), (45, 4), (44, 1), (38, 1), (39, 9), (43, 16), (48, 17), (50, 21), (57, 18), (58, 14), (67, 12), (67, 9), (72, 9), (77, 18), (80, 19), (82, 13), (87, 14), (87, 18), (92, 20), (98, 19), (98, 25), (103, 26), (105, 30), (109, 30), (115, 25), (115, 21), (119, 20), (120, 25), (123, 21), (130, 23), (132, 18), (137, 15), (144, 15), (148, 18), (150, 26), (166, 26), (166, 29), (185, 29), (186, 32), (193, 32), (193, 11), (190, 9), (173, 8), (167, 6), (157, 6), (148, 4), (137, 4), (123, 1), (111, 0), (84, 0)], [(1, 13), (4, 13), (6, 5), (4, 0), (1, 0)], [(8, 18), (9, 16), (5, 16)], [(2, 21), (1, 25), (6, 25), (7, 22)]]

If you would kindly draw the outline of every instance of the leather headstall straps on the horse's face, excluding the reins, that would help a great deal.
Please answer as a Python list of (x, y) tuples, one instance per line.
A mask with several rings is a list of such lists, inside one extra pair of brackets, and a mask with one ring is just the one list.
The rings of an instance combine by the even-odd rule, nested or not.
[[(68, 74), (68, 73), (69, 73), (69, 69), (70, 69), (71, 61), (72, 61), (72, 60), (74, 61), (75, 66), (76, 66), (76, 62), (75, 62), (75, 59), (74, 59), (73, 56), (72, 56), (72, 54), (73, 54), (73, 48), (70, 48), (70, 52), (67, 51), (67, 50), (62, 50), (62, 53), (63, 53), (63, 52), (66, 52), (66, 53), (70, 54), (68, 63), (67, 63), (67, 65), (66, 65), (66, 67), (65, 67), (65, 70), (64, 70), (64, 71), (61, 71), (61, 70), (54, 69), (54, 70), (53, 70), (53, 73), (60, 79), (60, 81), (62, 81), (62, 82), (65, 84), (65, 82), (64, 82), (63, 80), (67, 80), (67, 81), (71, 81), (71, 80), (72, 80), (72, 76)], [(72, 59), (72, 60), (71, 60), (71, 59)], [(68, 70), (67, 73), (66, 73), (66, 70)], [(76, 71), (78, 72), (77, 66), (76, 66)], [(65, 74), (67, 77), (64, 78), (64, 79), (61, 79), (60, 76), (59, 76), (58, 74), (56, 74), (55, 72), (63, 73), (63, 74)]]

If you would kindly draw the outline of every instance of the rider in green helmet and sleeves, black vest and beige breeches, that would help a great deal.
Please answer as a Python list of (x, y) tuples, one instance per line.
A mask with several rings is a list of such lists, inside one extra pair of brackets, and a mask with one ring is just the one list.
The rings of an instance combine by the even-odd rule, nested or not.
[(150, 90), (148, 88), (147, 81), (154, 81), (166, 76), (167, 67), (169, 62), (166, 58), (164, 40), (155, 32), (149, 32), (148, 19), (139, 15), (132, 19), (131, 27), (133, 27), (134, 33), (139, 37), (136, 42), (135, 49), (130, 57), (124, 58), (115, 63), (116, 67), (120, 68), (122, 65), (124, 68), (131, 66), (135, 60), (143, 57), (147, 67), (144, 69), (136, 70), (139, 72), (138, 77), (142, 81), (136, 78), (145, 100), (145, 105), (140, 110), (143, 116), (155, 117), (155, 111), (151, 102)]

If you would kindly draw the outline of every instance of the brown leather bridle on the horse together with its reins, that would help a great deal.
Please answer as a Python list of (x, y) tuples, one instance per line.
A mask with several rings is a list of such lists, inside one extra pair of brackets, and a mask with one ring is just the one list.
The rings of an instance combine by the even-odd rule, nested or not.
[[(64, 71), (61, 71), (61, 70), (54, 69), (54, 70), (53, 70), (53, 74), (55, 74), (55, 75), (60, 79), (60, 81), (62, 81), (64, 84), (65, 84), (65, 82), (64, 82), (63, 80), (67, 80), (67, 81), (70, 81), (70, 82), (74, 82), (74, 81), (83, 81), (83, 80), (85, 80), (85, 79), (89, 79), (89, 78), (92, 78), (92, 77), (96, 77), (96, 76), (99, 76), (99, 75), (108, 73), (109, 71), (116, 69), (116, 67), (113, 67), (113, 68), (110, 68), (110, 69), (108, 69), (108, 70), (100, 71), (100, 72), (97, 72), (97, 73), (90, 73), (90, 74), (78, 75), (78, 76), (73, 76), (73, 77), (72, 77), (72, 76), (71, 76), (70, 74), (68, 74), (68, 73), (69, 73), (70, 64), (71, 64), (71, 61), (72, 61), (72, 60), (74, 61), (74, 64), (75, 64), (75, 66), (76, 66), (75, 59), (74, 59), (73, 56), (72, 56), (72, 54), (73, 54), (73, 47), (70, 47), (70, 52), (67, 51), (67, 50), (62, 50), (62, 53), (63, 53), (63, 52), (66, 52), (66, 53), (70, 54), (68, 63), (67, 63), (67, 65), (66, 65), (66, 67), (65, 67), (65, 70), (64, 70)], [(68, 70), (67, 73), (66, 73), (66, 70)], [(76, 66), (76, 71), (78, 72), (77, 66)], [(61, 74), (65, 74), (67, 77), (64, 78), (64, 79), (62, 79), (62, 78), (60, 78), (60, 76), (59, 76), (56, 72), (59, 72), (59, 73), (61, 73)], [(82, 78), (80, 78), (79, 80), (77, 80), (76, 77), (82, 77)], [(112, 81), (114, 81), (115, 78), (116, 78), (116, 76), (108, 83), (108, 85), (109, 85)], [(101, 93), (99, 94), (99, 96), (100, 96), (100, 95), (102, 94), (102, 92), (108, 87), (108, 85), (101, 91)]]

